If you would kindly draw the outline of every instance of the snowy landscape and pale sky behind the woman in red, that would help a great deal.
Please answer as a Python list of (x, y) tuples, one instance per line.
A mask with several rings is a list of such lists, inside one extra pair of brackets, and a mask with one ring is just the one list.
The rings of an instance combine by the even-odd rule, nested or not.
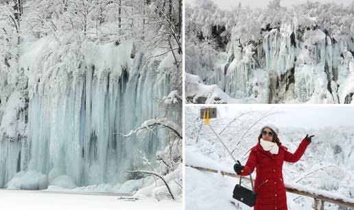
[[(186, 107), (186, 209), (235, 209), (230, 201), (236, 203), (236, 209), (253, 209), (232, 198), (239, 179), (189, 167), (235, 173), (235, 162), (200, 120), (200, 108)], [(284, 163), (285, 185), (354, 202), (354, 122), (346, 120), (354, 114), (352, 107), (237, 105), (217, 107), (217, 113), (209, 123), (242, 165), (257, 144), (263, 124), (279, 127), (279, 139), (291, 153), (307, 133), (315, 135), (300, 161)], [(253, 172), (252, 178), (255, 176)], [(251, 189), (248, 181), (242, 185)], [(314, 209), (314, 198), (287, 192), (287, 206)], [(325, 202), (325, 209), (349, 208)]]

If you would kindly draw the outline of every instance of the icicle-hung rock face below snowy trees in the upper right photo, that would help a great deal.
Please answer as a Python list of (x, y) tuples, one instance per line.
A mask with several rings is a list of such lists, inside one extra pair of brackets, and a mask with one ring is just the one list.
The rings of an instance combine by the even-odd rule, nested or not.
[(261, 40), (241, 44), (231, 37), (228, 57), (207, 83), (236, 99), (259, 103), (350, 103), (354, 40), (321, 29), (292, 25), (263, 31)]

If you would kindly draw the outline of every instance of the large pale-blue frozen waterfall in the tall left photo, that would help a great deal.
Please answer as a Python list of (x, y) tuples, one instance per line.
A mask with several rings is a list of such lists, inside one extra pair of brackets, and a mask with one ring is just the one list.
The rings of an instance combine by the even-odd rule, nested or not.
[[(180, 120), (179, 106), (166, 114), (158, 100), (176, 90), (178, 73), (165, 70), (164, 60), (148, 60), (144, 51), (132, 55), (132, 42), (113, 45), (86, 51), (79, 70), (49, 71), (44, 62), (37, 65), (44, 70), (29, 67), (27, 141), (1, 140), (1, 187), (22, 170), (44, 174), (49, 185), (61, 175), (78, 186), (121, 183), (135, 178), (126, 170), (143, 168), (141, 154), (154, 160), (156, 151), (165, 148), (163, 129), (132, 137), (120, 133), (150, 118)], [(56, 62), (51, 55), (45, 53)], [(23, 66), (36, 66), (27, 58)]]

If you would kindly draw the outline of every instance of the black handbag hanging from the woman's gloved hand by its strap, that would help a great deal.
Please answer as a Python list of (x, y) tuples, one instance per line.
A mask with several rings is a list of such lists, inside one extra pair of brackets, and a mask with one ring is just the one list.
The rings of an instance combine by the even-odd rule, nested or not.
[(239, 200), (240, 202), (243, 202), (244, 204), (248, 205), (248, 207), (253, 207), (256, 202), (257, 194), (254, 192), (255, 188), (253, 187), (252, 176), (250, 174), (252, 190), (241, 186), (241, 178), (242, 176), (240, 175), (239, 184), (236, 185), (235, 188), (233, 189), (233, 198)]

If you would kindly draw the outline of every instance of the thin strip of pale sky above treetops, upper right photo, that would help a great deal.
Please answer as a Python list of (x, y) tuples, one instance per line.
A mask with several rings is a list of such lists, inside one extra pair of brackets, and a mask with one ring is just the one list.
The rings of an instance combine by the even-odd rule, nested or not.
[[(193, 3), (193, 1), (194, 0), (186, 0), (187, 3)], [(269, 0), (212, 0), (212, 1), (214, 1), (217, 5), (219, 5), (220, 8), (224, 10), (231, 10), (234, 6), (239, 5), (239, 2), (241, 2), (241, 5), (245, 5), (245, 6), (249, 5), (252, 8), (266, 8), (269, 2)], [(281, 5), (289, 7), (290, 5), (304, 3), (306, 1), (307, 0), (296, 0), (296, 1), (281, 0)], [(320, 2), (322, 3), (335, 2), (335, 3), (342, 3), (343, 5), (350, 5), (352, 1), (353, 0), (320, 0)]]

